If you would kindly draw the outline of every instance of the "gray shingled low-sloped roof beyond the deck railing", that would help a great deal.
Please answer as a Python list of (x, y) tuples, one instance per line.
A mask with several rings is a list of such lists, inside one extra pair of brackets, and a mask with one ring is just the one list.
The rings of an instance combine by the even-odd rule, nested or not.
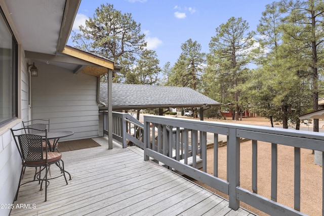
[[(107, 83), (100, 83), (100, 101), (107, 104)], [(221, 104), (187, 87), (112, 83), (112, 108), (148, 109), (220, 106)]]

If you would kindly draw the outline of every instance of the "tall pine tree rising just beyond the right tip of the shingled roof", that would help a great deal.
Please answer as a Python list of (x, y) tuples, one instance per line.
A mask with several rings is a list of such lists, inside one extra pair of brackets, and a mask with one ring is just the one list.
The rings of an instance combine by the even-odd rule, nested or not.
[(250, 62), (249, 54), (253, 48), (254, 34), (253, 31), (249, 32), (249, 25), (245, 20), (231, 17), (225, 24), (216, 28), (216, 35), (209, 44), (208, 65), (219, 67), (218, 72), (222, 80), (217, 82), (225, 81), (224, 94), (233, 91), (234, 97), (231, 100), (235, 104), (236, 120), (240, 111), (237, 88), (246, 79), (246, 67)]

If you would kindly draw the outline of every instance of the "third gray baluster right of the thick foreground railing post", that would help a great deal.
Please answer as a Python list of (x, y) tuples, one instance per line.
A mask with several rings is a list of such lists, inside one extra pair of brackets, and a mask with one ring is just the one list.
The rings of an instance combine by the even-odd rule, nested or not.
[(294, 208), (300, 211), (300, 148), (295, 147)]

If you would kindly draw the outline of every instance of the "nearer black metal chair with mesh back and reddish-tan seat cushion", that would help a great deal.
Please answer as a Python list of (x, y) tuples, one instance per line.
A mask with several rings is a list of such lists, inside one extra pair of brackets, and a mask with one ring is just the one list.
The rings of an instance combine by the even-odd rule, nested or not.
[[(35, 134), (25, 134), (24, 133), (25, 128), (11, 129), (11, 133), (14, 137), (16, 146), (18, 148), (22, 160), (19, 185), (16, 192), (15, 200), (17, 200), (18, 198), (18, 192), (21, 185), (38, 181), (39, 184), (41, 184), (41, 190), (43, 190), (43, 182), (45, 181), (45, 201), (47, 201), (47, 187), (50, 184), (49, 182), (50, 179), (48, 179), (48, 172), (50, 170), (50, 165), (54, 163), (60, 167), (63, 173), (61, 176), (64, 176), (65, 182), (66, 184), (68, 184), (67, 179), (65, 177), (64, 162), (61, 159), (62, 154), (59, 152), (48, 151), (47, 145), (45, 145), (45, 151), (43, 150), (43, 140), (44, 139), (47, 140), (47, 129), (45, 130), (35, 129), (35, 130), (37, 132)], [(37, 135), (39, 133), (45, 133), (45, 137)], [(59, 165), (60, 161), (62, 161), (62, 166)], [(21, 184), (25, 167), (35, 167), (36, 170), (37, 167), (39, 167), (39, 171), (35, 172), (33, 180)], [(45, 170), (45, 175), (42, 178), (41, 172), (43, 170)]]

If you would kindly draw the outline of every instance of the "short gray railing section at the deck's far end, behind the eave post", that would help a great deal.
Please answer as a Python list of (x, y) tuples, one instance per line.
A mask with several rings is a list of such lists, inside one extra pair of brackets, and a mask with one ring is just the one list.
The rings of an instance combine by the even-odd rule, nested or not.
[[(129, 113), (112, 112), (112, 138), (127, 147), (128, 142), (144, 148), (144, 125)], [(104, 112), (103, 133), (108, 135), (107, 112)]]

